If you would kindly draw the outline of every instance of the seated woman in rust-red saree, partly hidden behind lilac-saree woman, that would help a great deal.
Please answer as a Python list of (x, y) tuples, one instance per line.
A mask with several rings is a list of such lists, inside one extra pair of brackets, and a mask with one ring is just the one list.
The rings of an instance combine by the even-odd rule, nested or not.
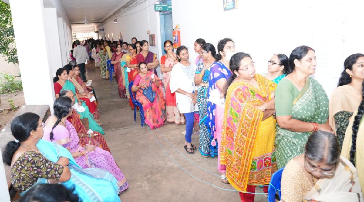
[[(75, 102), (75, 96), (72, 91), (70, 90), (63, 90), (59, 93), (59, 96), (66, 96), (68, 98), (71, 98), (72, 103)], [(76, 112), (74, 109), (72, 111), (72, 115), (67, 117), (67, 120), (72, 123), (72, 125), (75, 127), (78, 137), (80, 138), (80, 144), (86, 145), (86, 144), (92, 144), (96, 147), (100, 147), (105, 151), (110, 152), (110, 149), (104, 139), (104, 137), (101, 135), (101, 133), (97, 131), (92, 131), (91, 134), (87, 134), (87, 129), (83, 125), (80, 119), (80, 115)]]

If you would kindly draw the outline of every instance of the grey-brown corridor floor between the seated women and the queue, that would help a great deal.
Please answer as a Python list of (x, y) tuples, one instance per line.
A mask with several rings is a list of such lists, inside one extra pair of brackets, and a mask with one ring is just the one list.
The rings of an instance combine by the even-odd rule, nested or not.
[[(123, 202), (240, 201), (236, 191), (218, 189), (199, 181), (233, 189), (220, 181), (217, 157), (204, 158), (198, 150), (192, 155), (185, 152), (182, 135), (185, 125), (168, 124), (158, 128), (169, 144), (156, 129), (150, 131), (147, 126), (141, 127), (139, 114), (134, 122), (128, 100), (118, 96), (115, 79), (112, 82), (101, 79), (100, 69), (95, 68), (93, 63), (86, 67), (87, 79), (92, 80), (91, 86), (95, 88), (99, 100), (105, 140), (129, 182), (129, 188), (120, 194)], [(198, 135), (193, 135), (192, 143), (197, 147), (198, 141)], [(161, 147), (182, 169), (199, 180), (179, 168)], [(262, 192), (262, 189), (257, 188), (257, 192)], [(266, 201), (266, 198), (256, 195), (255, 201)]]

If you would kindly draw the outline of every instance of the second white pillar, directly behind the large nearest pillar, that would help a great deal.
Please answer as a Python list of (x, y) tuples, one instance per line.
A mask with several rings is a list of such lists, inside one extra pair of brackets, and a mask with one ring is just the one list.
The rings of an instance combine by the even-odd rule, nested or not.
[(44, 20), (48, 43), (51, 44), (51, 51), (48, 52), (50, 55), (51, 72), (52, 76), (55, 76), (57, 69), (63, 67), (56, 9), (44, 8)]

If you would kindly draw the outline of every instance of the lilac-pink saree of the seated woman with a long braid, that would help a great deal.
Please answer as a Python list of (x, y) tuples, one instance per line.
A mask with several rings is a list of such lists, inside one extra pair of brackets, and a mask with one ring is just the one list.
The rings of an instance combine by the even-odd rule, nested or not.
[[(63, 125), (57, 125), (55, 128), (45, 127), (44, 128), (44, 140), (50, 140), (50, 133), (53, 131), (53, 142), (61, 145), (62, 147), (69, 149), (71, 153), (74, 152), (84, 152), (85, 149), (81, 147), (79, 144), (79, 137), (77, 136), (77, 132), (73, 125), (66, 120), (66, 127)], [(116, 165), (114, 157), (112, 157), (110, 152), (104, 151), (99, 147), (95, 147), (95, 150), (92, 152), (85, 153), (84, 156), (79, 156), (75, 158), (75, 161), (81, 168), (100, 168), (107, 170), (110, 174), (112, 174), (116, 180), (118, 181), (119, 193), (123, 190), (126, 190), (129, 186), (126, 178), (123, 173), (119, 169), (119, 166)]]

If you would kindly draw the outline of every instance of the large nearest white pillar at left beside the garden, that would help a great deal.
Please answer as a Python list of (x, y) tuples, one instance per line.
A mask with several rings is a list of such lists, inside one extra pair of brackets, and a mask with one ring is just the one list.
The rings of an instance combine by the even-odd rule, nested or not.
[(55, 94), (43, 0), (10, 0), (10, 7), (25, 104), (47, 104), (53, 112)]

